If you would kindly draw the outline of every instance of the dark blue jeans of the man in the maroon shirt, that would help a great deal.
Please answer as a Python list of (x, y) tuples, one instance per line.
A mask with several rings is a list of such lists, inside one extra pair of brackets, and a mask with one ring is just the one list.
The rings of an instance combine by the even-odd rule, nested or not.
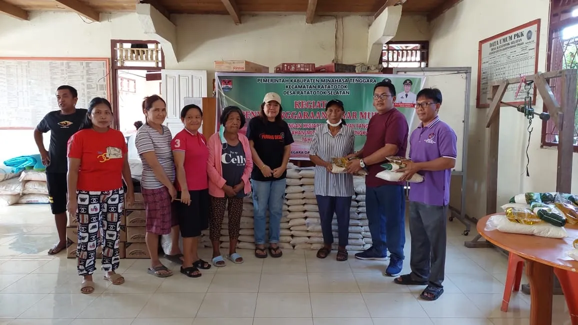
[(392, 256), (403, 260), (403, 245), (405, 245), (403, 186), (368, 186), (365, 204), (375, 253), (385, 257), (389, 249)]

